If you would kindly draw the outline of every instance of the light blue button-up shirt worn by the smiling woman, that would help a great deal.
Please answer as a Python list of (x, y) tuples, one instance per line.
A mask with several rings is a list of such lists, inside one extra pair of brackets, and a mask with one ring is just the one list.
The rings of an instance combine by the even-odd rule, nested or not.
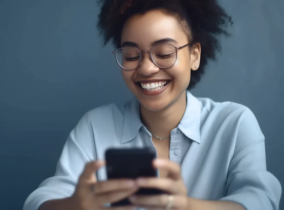
[[(181, 164), (188, 196), (233, 201), (246, 210), (278, 210), (279, 181), (266, 170), (264, 135), (246, 106), (187, 92), (187, 106), (171, 131), (170, 160)], [(24, 210), (37, 210), (43, 202), (73, 194), (87, 162), (104, 159), (109, 147), (154, 148), (151, 134), (140, 120), (137, 99), (123, 110), (114, 104), (86, 113), (71, 131), (53, 177), (29, 195)], [(105, 168), (97, 173), (106, 179)]]

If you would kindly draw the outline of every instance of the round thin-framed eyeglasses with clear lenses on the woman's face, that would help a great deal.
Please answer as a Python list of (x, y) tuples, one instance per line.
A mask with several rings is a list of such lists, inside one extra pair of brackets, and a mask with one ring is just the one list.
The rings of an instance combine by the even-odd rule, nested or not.
[(190, 43), (175, 47), (172, 44), (158, 44), (151, 48), (151, 50), (140, 51), (135, 47), (122, 47), (112, 54), (115, 55), (115, 59), (118, 65), (127, 71), (136, 69), (141, 61), (142, 55), (145, 53), (150, 54), (152, 62), (159, 68), (167, 69), (172, 67), (177, 61), (177, 51), (190, 45)]

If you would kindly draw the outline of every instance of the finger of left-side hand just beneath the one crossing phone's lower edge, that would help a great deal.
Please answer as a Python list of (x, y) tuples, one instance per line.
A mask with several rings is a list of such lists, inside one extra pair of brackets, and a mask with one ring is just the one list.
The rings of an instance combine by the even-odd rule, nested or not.
[(119, 191), (114, 191), (114, 192), (105, 193), (101, 195), (96, 195), (95, 196), (96, 203), (99, 205), (103, 205), (106, 203), (117, 202), (117, 201), (120, 201), (122, 199), (125, 199), (133, 195), (137, 190), (138, 188), (130, 189), (130, 190), (119, 190)]

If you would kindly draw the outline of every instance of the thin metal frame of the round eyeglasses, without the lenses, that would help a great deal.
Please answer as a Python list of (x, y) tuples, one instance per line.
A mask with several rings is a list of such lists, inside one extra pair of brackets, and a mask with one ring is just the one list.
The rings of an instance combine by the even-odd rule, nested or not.
[[(158, 44), (158, 45), (165, 45), (165, 44), (167, 44), (167, 45), (172, 45), (172, 44), (169, 44), (169, 43), (162, 43), (162, 44)], [(156, 64), (156, 62), (154, 61), (154, 58), (153, 58), (151, 52), (152, 52), (153, 48), (155, 48), (155, 47), (158, 46), (158, 45), (153, 46), (153, 47), (151, 48), (151, 50), (141, 50), (141, 51), (140, 51), (139, 49), (135, 48), (135, 47), (125, 46), (125, 47), (129, 47), (129, 48), (134, 48), (134, 49), (138, 50), (138, 52), (139, 52), (139, 62), (138, 62), (138, 65), (137, 65), (137, 67), (136, 67), (135, 69), (137, 69), (137, 68), (140, 66), (140, 64), (141, 64), (141, 61), (142, 61), (142, 54), (150, 54), (151, 61), (152, 61), (157, 67), (159, 67), (159, 68), (161, 68), (161, 69), (168, 69), (168, 68), (171, 68), (171, 67), (173, 67), (174, 64), (177, 62), (177, 52), (178, 52), (178, 50), (181, 50), (182, 48), (185, 48), (186, 46), (189, 46), (189, 45), (191, 46), (192, 43), (188, 43), (188, 44), (183, 45), (183, 46), (181, 46), (181, 47), (176, 47), (176, 46), (172, 45), (172, 46), (175, 48), (175, 50), (176, 50), (176, 60), (175, 60), (174, 64), (172, 64), (172, 66), (170, 66), (170, 67), (161, 67), (161, 66), (159, 66), (158, 64)], [(135, 70), (135, 69), (125, 69), (124, 67), (122, 67), (122, 66), (119, 64), (119, 61), (117, 60), (117, 52), (118, 52), (118, 50), (120, 50), (120, 49), (122, 49), (122, 48), (125, 48), (125, 47), (118, 48), (117, 50), (113, 51), (112, 54), (114, 54), (115, 60), (117, 61), (117, 64), (118, 64), (122, 69), (124, 69), (125, 71), (133, 71), (133, 70)]]

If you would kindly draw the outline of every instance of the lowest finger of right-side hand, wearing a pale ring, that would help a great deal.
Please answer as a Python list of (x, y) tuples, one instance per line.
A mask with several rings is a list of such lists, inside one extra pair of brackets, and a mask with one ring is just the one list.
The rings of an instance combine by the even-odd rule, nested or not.
[[(132, 202), (135, 206), (147, 206), (147, 210), (151, 207), (157, 209), (157, 207), (165, 209), (167, 204), (171, 199), (171, 209), (184, 209), (187, 204), (187, 197), (184, 196), (173, 196), (173, 195), (136, 195), (129, 197), (130, 202)], [(148, 208), (149, 207), (149, 208)]]

